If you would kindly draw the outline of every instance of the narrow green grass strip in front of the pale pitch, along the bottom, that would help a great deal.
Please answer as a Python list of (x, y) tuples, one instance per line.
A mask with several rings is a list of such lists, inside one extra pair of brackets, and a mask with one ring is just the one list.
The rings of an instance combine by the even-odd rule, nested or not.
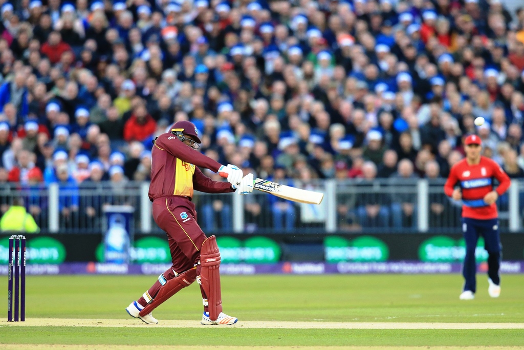
[[(221, 346), (518, 346), (522, 330), (282, 330), (254, 328), (1, 328), (0, 344)], [(191, 329), (191, 328), (190, 328)]]

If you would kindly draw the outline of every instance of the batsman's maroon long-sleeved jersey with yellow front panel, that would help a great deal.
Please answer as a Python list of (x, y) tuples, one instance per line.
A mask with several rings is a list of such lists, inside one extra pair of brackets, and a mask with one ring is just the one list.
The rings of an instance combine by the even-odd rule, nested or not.
[(221, 164), (193, 150), (177, 136), (165, 133), (158, 136), (151, 151), (151, 183), (149, 199), (181, 196), (193, 198), (193, 190), (206, 193), (234, 192), (231, 184), (213, 181), (198, 167), (219, 171)]

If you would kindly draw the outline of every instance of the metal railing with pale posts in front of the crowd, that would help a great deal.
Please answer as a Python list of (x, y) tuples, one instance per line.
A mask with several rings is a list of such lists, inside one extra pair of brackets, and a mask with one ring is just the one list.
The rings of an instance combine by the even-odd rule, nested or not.
[[(323, 192), (320, 205), (292, 203), (269, 194), (196, 193), (198, 222), (206, 233), (256, 232), (308, 233), (362, 232), (456, 232), (461, 203), (443, 193), (443, 179), (362, 179), (315, 181), (304, 187)], [(140, 232), (160, 232), (152, 219), (149, 183), (111, 182), (78, 187), (0, 186), (0, 214), (15, 197), (24, 199), (42, 232), (100, 233), (104, 230), (106, 205), (135, 208), (134, 227)], [(498, 201), (500, 228), (518, 232), (522, 227), (524, 181), (512, 181)]]

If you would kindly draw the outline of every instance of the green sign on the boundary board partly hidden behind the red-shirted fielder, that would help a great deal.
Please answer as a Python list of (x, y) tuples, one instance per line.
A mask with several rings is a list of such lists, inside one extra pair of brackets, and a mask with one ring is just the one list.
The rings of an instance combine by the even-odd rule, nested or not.
[[(424, 262), (461, 262), (466, 255), (464, 238), (454, 240), (447, 236), (435, 236), (422, 242), (419, 247), (419, 259)], [(478, 239), (475, 260), (486, 261), (488, 253), (484, 249), (484, 239)]]

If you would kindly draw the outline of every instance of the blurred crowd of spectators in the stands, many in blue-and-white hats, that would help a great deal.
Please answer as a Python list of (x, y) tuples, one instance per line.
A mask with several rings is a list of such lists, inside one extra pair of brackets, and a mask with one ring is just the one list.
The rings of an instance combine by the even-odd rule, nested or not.
[[(471, 133), (524, 176), (524, 9), (500, 0), (0, 0), (0, 18), (2, 183), (148, 181), (151, 140), (179, 120), (275, 181), (445, 178)], [(412, 199), (351, 210), (416, 225)], [(292, 227), (267, 200), (246, 214)], [(100, 215), (80, 202), (61, 197), (64, 222)]]

